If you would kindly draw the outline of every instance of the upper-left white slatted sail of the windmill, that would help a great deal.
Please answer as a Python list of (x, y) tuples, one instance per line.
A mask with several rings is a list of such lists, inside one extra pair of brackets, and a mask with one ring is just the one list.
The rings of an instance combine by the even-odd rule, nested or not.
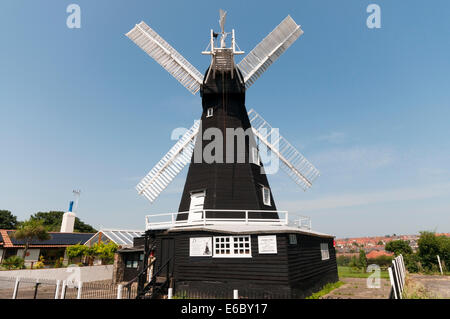
[(137, 24), (126, 36), (155, 59), (192, 94), (195, 95), (200, 90), (203, 74), (145, 22)]

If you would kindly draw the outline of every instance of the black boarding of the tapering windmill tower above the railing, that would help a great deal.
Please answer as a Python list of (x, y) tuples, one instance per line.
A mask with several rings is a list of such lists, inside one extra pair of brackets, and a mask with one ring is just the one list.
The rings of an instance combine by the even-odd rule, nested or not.
[[(223, 156), (219, 162), (207, 163), (204, 158), (199, 163), (194, 161), (195, 154), (203, 154), (205, 147), (212, 143), (212, 141), (197, 138), (179, 212), (189, 210), (193, 191), (205, 191), (204, 209), (276, 210), (272, 193), (270, 205), (263, 203), (262, 187), (269, 189), (270, 187), (266, 175), (261, 170), (262, 163), (260, 166), (249, 160), (249, 154), (251, 149), (256, 147), (256, 142), (245, 108), (245, 86), (239, 81), (236, 72), (239, 71), (237, 69), (234, 71), (233, 78), (231, 72), (217, 72), (214, 76), (211, 74), (202, 86), (201, 136), (208, 129), (218, 129), (223, 137)], [(211, 117), (207, 117), (209, 108), (213, 109)], [(247, 130), (245, 149), (238, 154), (237, 137), (234, 136), (234, 156), (230, 161), (227, 157), (231, 158), (231, 148), (227, 150), (226, 145), (230, 142), (231, 136), (227, 136), (226, 131), (238, 128)], [(208, 217), (233, 218), (231, 212), (210, 212)], [(187, 214), (177, 216), (177, 220), (187, 218)], [(278, 214), (259, 213), (254, 214), (253, 218), (278, 218)]]

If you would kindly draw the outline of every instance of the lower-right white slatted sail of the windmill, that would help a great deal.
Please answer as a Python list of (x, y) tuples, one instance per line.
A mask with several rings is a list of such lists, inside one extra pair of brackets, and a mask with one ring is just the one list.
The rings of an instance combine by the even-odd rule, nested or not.
[(319, 171), (284, 137), (277, 135), (273, 138), (272, 126), (253, 109), (248, 112), (248, 117), (253, 133), (279, 157), (281, 168), (304, 190), (310, 188), (320, 175)]

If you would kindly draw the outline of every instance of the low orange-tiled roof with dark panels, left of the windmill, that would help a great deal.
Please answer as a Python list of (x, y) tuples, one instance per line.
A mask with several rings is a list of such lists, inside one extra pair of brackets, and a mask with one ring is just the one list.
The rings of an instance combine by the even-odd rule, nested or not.
[[(22, 247), (25, 242), (23, 240), (17, 240), (11, 235), (14, 230), (0, 230), (0, 234), (4, 240), (4, 247)], [(33, 240), (30, 247), (65, 247), (76, 245), (78, 243), (84, 244), (89, 238), (92, 237), (91, 233), (56, 233), (50, 232), (49, 240)]]

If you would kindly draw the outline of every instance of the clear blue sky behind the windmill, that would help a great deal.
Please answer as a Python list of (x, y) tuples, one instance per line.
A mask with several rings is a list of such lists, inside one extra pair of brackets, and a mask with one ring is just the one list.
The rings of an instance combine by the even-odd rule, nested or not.
[[(66, 7), (82, 10), (66, 27)], [(272, 2), (273, 3), (273, 2)], [(381, 7), (381, 29), (366, 7)], [(21, 1), (0, 4), (0, 209), (66, 210), (144, 228), (178, 208), (187, 168), (150, 205), (134, 186), (201, 113), (125, 33), (146, 21), (203, 72), (218, 10), (250, 51), (287, 14), (304, 35), (249, 89), (255, 108), (315, 164), (303, 192), (269, 176), (279, 209), (338, 237), (450, 231), (448, 1)]]

